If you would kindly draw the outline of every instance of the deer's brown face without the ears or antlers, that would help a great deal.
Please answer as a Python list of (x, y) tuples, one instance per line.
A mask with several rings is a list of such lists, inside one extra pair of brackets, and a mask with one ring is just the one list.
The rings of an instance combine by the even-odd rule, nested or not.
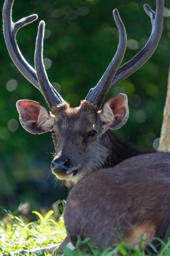
[(100, 149), (102, 135), (98, 109), (88, 101), (82, 101), (78, 108), (67, 103), (52, 112), (55, 115), (52, 137), (56, 156), (51, 170), (57, 178), (76, 181), (96, 166), (101, 166), (102, 155), (107, 149)]

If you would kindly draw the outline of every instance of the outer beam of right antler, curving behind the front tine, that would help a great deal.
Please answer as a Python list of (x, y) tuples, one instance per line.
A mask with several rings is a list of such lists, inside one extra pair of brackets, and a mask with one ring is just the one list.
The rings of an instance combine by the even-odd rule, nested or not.
[(163, 28), (164, 0), (156, 0), (156, 5), (156, 13), (148, 6), (148, 4), (144, 5), (144, 10), (150, 16), (152, 23), (152, 33), (148, 42), (135, 57), (133, 57), (130, 61), (128, 61), (118, 69), (107, 93), (109, 93), (109, 91), (117, 83), (119, 83), (127, 76), (135, 72), (139, 67), (141, 67), (155, 51), (159, 43)]

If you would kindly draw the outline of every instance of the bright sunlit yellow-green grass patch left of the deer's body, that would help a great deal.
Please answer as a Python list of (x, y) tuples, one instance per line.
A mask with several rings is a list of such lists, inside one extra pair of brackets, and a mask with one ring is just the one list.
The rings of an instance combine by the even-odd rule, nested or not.
[(63, 217), (56, 220), (52, 210), (44, 214), (33, 213), (38, 219), (28, 222), (25, 216), (15, 216), (6, 211), (6, 216), (0, 221), (0, 250), (3, 253), (50, 246), (65, 238)]

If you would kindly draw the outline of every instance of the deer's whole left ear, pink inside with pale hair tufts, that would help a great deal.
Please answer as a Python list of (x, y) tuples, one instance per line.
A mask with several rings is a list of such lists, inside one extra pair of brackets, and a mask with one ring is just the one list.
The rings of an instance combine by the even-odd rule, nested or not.
[(54, 126), (54, 115), (36, 101), (17, 101), (20, 123), (25, 130), (33, 134), (51, 131)]

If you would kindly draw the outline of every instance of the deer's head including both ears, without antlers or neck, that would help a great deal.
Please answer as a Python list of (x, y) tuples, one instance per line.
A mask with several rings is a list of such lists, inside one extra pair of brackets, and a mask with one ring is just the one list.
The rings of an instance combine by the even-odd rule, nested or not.
[(108, 128), (120, 128), (129, 115), (125, 94), (113, 96), (102, 110), (86, 100), (77, 108), (60, 104), (51, 112), (35, 101), (23, 100), (17, 102), (17, 110), (28, 132), (51, 132), (56, 152), (52, 173), (60, 180), (73, 182), (102, 167), (108, 155), (102, 135)]

